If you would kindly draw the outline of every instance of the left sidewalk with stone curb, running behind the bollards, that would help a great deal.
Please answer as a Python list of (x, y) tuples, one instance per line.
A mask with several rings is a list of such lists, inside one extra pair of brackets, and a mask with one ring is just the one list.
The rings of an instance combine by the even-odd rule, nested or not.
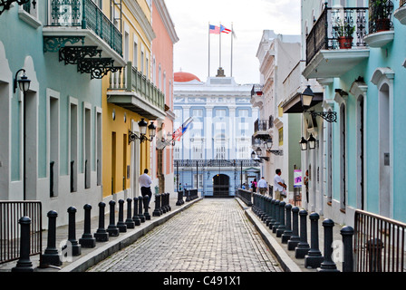
[[(186, 198), (183, 198), (185, 200)], [(191, 201), (185, 201), (181, 206), (177, 206), (176, 202), (178, 200), (177, 194), (170, 194), (169, 205), (171, 210), (162, 214), (160, 217), (153, 217), (152, 213), (155, 207), (155, 202), (153, 198), (150, 201), (150, 220), (146, 220), (141, 223), (140, 226), (135, 228), (128, 228), (127, 232), (120, 233), (118, 237), (109, 237), (107, 242), (96, 242), (96, 247), (85, 248), (82, 247), (82, 254), (80, 256), (73, 256), (72, 262), (65, 261), (62, 266), (49, 266), (46, 268), (40, 268), (39, 266), (39, 255), (30, 256), (30, 260), (33, 263), (34, 272), (84, 272), (89, 267), (96, 265), (103, 259), (111, 256), (111, 254), (121, 250), (123, 247), (131, 245), (139, 237), (147, 234), (152, 228), (158, 227), (165, 223), (169, 218), (174, 217), (181, 211), (189, 208), (192, 204), (201, 200), (201, 198), (196, 198)], [(126, 207), (124, 207), (126, 208)], [(116, 218), (115, 222), (118, 221), (118, 208), (116, 208)], [(124, 210), (124, 221), (127, 218), (127, 210)], [(104, 226), (107, 228), (109, 226), (110, 215), (105, 214)], [(47, 221), (46, 221), (47, 222)], [(99, 217), (94, 217), (91, 220), (91, 232), (92, 234), (96, 232), (99, 227)], [(83, 234), (83, 221), (76, 222), (76, 240), (82, 237)], [(48, 231), (43, 231), (43, 251), (47, 247), (48, 243)], [(64, 246), (65, 241), (68, 239), (68, 226), (57, 227), (56, 228), (56, 247), (60, 250)], [(42, 253), (43, 253), (42, 251)], [(10, 272), (11, 269), (16, 265), (17, 261), (5, 263), (0, 265), (1, 272)]]

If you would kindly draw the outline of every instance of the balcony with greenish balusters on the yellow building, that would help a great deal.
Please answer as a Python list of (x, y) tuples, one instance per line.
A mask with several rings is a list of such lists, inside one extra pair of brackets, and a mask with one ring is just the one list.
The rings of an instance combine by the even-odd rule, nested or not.
[(135, 111), (149, 120), (165, 116), (165, 94), (128, 62), (118, 73), (111, 73), (108, 102)]

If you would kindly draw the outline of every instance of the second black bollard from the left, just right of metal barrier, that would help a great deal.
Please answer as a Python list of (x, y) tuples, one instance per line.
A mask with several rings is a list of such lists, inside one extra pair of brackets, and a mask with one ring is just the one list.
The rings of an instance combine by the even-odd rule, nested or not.
[(56, 246), (56, 218), (58, 214), (56, 211), (51, 210), (47, 214), (48, 217), (48, 244), (41, 256), (40, 267), (46, 266), (61, 266), (62, 261), (58, 253)]

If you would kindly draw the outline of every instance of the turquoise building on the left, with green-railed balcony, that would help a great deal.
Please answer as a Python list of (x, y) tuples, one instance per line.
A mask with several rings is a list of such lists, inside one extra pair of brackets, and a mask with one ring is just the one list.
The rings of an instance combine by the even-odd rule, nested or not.
[[(58, 224), (69, 207), (82, 218), (102, 200), (101, 79), (124, 66), (120, 22), (102, 1), (27, 1), (0, 27), (0, 199), (40, 200)], [(24, 76), (27, 92), (14, 88)]]

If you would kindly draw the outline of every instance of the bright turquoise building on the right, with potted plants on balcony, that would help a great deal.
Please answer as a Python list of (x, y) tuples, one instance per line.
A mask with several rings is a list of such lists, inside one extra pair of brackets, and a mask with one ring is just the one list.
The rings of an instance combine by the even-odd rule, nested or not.
[(302, 2), (303, 75), (323, 96), (303, 113), (302, 134), (316, 139), (302, 153), (306, 206), (346, 225), (356, 209), (405, 222), (404, 1)]

